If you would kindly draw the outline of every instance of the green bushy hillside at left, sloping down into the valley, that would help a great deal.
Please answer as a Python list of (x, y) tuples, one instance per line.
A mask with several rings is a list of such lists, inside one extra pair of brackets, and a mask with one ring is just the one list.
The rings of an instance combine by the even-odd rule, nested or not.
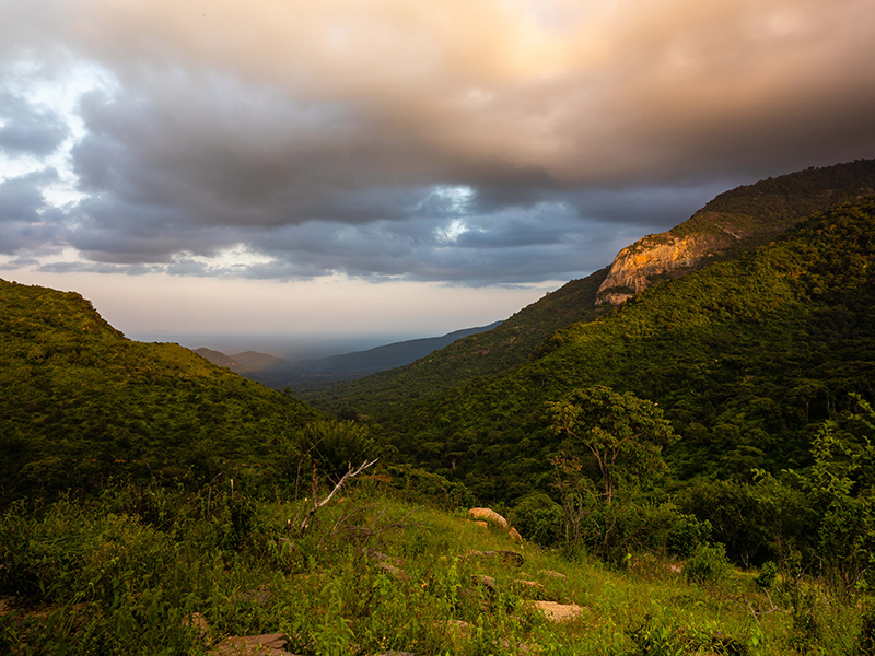
[(177, 344), (140, 343), (75, 293), (0, 280), (0, 493), (257, 462), (316, 412)]

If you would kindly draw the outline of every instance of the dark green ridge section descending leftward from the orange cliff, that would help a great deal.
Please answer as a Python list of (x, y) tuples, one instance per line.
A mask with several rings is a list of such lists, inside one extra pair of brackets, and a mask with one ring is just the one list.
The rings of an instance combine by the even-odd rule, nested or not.
[(457, 340), (416, 362), (329, 389), (302, 393), (317, 408), (357, 413), (385, 412), (429, 394), (517, 366), (556, 330), (590, 321), (598, 311), (595, 293), (607, 273), (572, 280), (514, 314), (492, 330)]

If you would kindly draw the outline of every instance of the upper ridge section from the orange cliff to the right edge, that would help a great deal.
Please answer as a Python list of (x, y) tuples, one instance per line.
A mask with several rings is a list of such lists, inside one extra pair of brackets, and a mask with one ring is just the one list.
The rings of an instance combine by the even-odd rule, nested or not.
[(810, 167), (715, 197), (668, 232), (623, 248), (598, 290), (618, 305), (648, 286), (768, 243), (797, 221), (875, 194), (875, 160)]

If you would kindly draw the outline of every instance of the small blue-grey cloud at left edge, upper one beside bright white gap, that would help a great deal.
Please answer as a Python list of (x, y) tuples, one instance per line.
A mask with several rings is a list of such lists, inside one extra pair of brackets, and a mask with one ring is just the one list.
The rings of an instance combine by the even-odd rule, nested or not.
[(50, 155), (70, 129), (56, 114), (39, 110), (0, 89), (0, 151), (10, 154)]

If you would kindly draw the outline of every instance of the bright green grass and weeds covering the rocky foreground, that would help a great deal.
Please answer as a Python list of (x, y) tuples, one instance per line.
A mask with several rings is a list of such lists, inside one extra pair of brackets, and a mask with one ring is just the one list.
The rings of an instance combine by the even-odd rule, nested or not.
[[(213, 492), (214, 494), (214, 492)], [(215, 499), (218, 496), (218, 499)], [(121, 487), (0, 519), (0, 652), (203, 654), (283, 632), (295, 654), (851, 654), (858, 604), (755, 573), (690, 584), (658, 558), (617, 571), (360, 487), (289, 530), (294, 503)], [(470, 558), (514, 550), (522, 566)], [(560, 573), (562, 577), (545, 572)], [(494, 587), (478, 584), (489, 576)], [(521, 586), (534, 581), (542, 587)], [(556, 624), (534, 599), (576, 604)], [(199, 613), (209, 632), (188, 620)]]

